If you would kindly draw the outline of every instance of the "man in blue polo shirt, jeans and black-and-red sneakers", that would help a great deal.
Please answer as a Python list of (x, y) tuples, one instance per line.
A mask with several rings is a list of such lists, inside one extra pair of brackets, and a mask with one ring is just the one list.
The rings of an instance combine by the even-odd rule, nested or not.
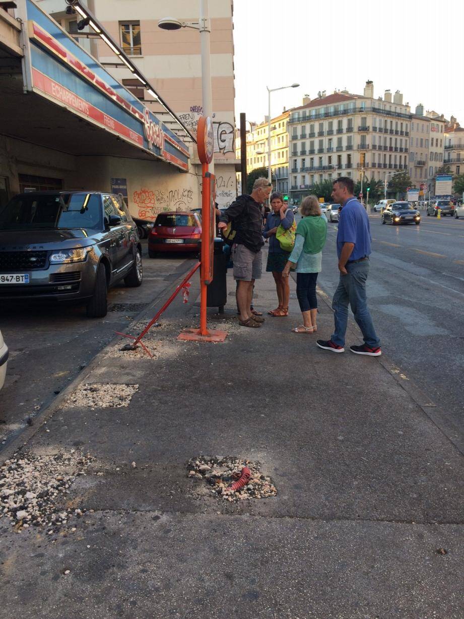
[(345, 352), (345, 333), (348, 325), (348, 305), (363, 333), (364, 344), (350, 346), (356, 355), (379, 357), (380, 340), (377, 337), (371, 314), (367, 308), (366, 280), (369, 275), (371, 230), (366, 209), (354, 197), (352, 178), (341, 176), (333, 181), (334, 202), (343, 204), (338, 219), (337, 255), (340, 282), (333, 295), (335, 331), (330, 340), (317, 340), (317, 345), (332, 352)]

